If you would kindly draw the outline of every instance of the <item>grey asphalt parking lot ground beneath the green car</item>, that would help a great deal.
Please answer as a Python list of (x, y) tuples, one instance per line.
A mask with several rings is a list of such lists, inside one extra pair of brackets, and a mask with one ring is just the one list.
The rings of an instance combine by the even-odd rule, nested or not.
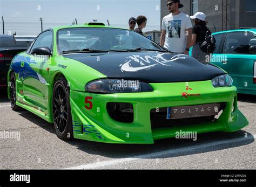
[(124, 145), (60, 140), (51, 123), (26, 110), (12, 111), (1, 90), (0, 131), (19, 131), (21, 138), (0, 139), (0, 169), (256, 169), (256, 96), (238, 99), (250, 125), (235, 133)]

